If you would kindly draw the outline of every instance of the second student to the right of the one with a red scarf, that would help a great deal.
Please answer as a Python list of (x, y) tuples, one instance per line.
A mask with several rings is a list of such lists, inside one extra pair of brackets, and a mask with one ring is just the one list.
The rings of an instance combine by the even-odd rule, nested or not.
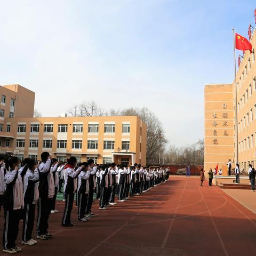
[(91, 172), (90, 172), (90, 178), (89, 178), (88, 202), (87, 202), (85, 214), (87, 215), (87, 217), (90, 218), (94, 216), (94, 214), (92, 213), (92, 201), (93, 201), (94, 189), (96, 187), (95, 175), (97, 172), (97, 165), (94, 165), (93, 159), (89, 159), (87, 163), (91, 169)]

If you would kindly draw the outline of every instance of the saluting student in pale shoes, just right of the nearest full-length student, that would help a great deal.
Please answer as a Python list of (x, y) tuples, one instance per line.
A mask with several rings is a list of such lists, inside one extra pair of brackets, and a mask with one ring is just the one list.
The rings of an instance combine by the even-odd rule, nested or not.
[(39, 172), (35, 160), (30, 159), (27, 166), (28, 170), (23, 178), (24, 217), (21, 243), (34, 245), (37, 241), (32, 238), (32, 231), (34, 228), (36, 203), (39, 198)]

